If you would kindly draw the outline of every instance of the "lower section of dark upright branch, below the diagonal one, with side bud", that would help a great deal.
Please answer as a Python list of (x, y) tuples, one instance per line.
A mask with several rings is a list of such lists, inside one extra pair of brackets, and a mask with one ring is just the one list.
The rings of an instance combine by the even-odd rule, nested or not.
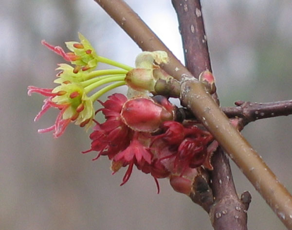
[[(247, 230), (247, 209), (251, 199), (244, 193), (244, 202), (237, 197), (227, 156), (219, 148), (212, 158), (214, 170), (210, 172), (215, 203), (209, 215), (215, 230)], [(219, 166), (221, 165), (221, 166)], [(249, 195), (249, 196), (248, 196)]]

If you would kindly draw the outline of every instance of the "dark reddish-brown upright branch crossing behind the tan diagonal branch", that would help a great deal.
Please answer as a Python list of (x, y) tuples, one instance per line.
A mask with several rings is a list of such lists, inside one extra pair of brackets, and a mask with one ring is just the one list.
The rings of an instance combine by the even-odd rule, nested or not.
[[(202, 71), (211, 71), (200, 0), (172, 0), (172, 4), (178, 15), (186, 67), (199, 77)], [(219, 103), (217, 95), (215, 98)], [(247, 214), (243, 212), (244, 205), (237, 196), (229, 160), (222, 148), (215, 152), (212, 165), (214, 170), (210, 176), (215, 202), (207, 211), (214, 229), (247, 230)]]

